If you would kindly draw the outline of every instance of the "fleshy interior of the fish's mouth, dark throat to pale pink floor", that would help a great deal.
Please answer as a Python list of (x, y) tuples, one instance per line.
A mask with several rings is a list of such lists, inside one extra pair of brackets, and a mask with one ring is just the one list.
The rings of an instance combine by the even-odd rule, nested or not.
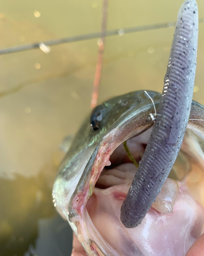
[[(127, 140), (127, 146), (138, 163), (150, 133), (151, 129)], [(115, 148), (110, 161), (111, 165), (105, 166), (96, 178), (83, 221), (79, 222), (80, 237), (89, 238), (88, 242), (86, 239), (81, 240), (86, 251), (94, 247), (98, 253), (96, 255), (147, 255), (148, 252), (148, 255), (156, 253), (160, 256), (168, 249), (172, 253), (169, 255), (185, 255), (182, 251), (186, 253), (200, 236), (204, 221), (203, 208), (193, 199), (187, 187), (180, 184), (173, 213), (162, 214), (151, 207), (138, 227), (127, 229), (120, 221), (120, 208), (137, 167), (127, 156), (122, 144)], [(187, 235), (182, 237), (186, 225)]]

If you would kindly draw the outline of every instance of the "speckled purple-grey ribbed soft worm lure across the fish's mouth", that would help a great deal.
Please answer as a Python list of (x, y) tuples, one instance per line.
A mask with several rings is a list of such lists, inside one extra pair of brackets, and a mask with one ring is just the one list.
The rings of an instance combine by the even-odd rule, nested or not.
[(197, 4), (186, 0), (177, 17), (155, 125), (121, 207), (120, 219), (127, 228), (141, 223), (179, 154), (191, 110), (197, 37)]

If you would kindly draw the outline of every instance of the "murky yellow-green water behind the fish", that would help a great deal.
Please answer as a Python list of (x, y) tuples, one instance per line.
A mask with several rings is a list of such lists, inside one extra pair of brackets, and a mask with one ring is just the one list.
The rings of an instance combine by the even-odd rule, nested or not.
[[(100, 31), (102, 1), (0, 3), (0, 48)], [(199, 17), (204, 2), (197, 1)], [(108, 30), (176, 20), (182, 1), (112, 0)], [(36, 12), (38, 11), (38, 12)], [(37, 16), (37, 17), (35, 17)], [(99, 102), (161, 91), (172, 28), (106, 39)], [(51, 191), (62, 139), (90, 111), (97, 39), (0, 56), (0, 254), (70, 255), (71, 231)], [(199, 25), (194, 99), (204, 104), (204, 24)]]

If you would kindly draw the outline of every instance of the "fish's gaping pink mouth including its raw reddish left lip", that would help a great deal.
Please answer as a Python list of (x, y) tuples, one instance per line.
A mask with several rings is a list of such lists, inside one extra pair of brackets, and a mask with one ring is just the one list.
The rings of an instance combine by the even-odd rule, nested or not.
[[(127, 124), (123, 129), (120, 127), (119, 133), (118, 129), (111, 129), (101, 140), (90, 168), (90, 179), (72, 196), (69, 219), (77, 221), (81, 242), (89, 255), (165, 255), (166, 250), (169, 255), (184, 255), (200, 236), (204, 220), (204, 210), (192, 198), (185, 182), (176, 184), (167, 179), (166, 190), (160, 193), (163, 199), (150, 208), (138, 227), (126, 229), (120, 221), (121, 205), (137, 172), (136, 166), (125, 158), (121, 143), (140, 132), (134, 124), (138, 124), (137, 118), (129, 123), (132, 129), (129, 130)], [(125, 134), (126, 131), (131, 132)], [(137, 131), (136, 134), (132, 134), (133, 131)], [(147, 133), (127, 140), (137, 161), (149, 139)], [(123, 163), (117, 165), (117, 161)], [(188, 171), (186, 169), (182, 181)]]

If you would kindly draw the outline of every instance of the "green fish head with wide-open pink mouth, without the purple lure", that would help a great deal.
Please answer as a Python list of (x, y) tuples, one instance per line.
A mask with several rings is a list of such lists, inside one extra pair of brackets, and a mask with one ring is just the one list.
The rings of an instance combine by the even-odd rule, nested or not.
[[(157, 111), (161, 95), (147, 93)], [(203, 173), (204, 129), (202, 122), (196, 120), (189, 121), (169, 176), (176, 182), (167, 179), (160, 193), (162, 199), (156, 200), (157, 204), (138, 227), (127, 229), (120, 221), (121, 205), (137, 172), (122, 143), (127, 141), (131, 154), (139, 162), (153, 124), (149, 116), (155, 112), (148, 95), (144, 91), (132, 92), (96, 107), (107, 108), (104, 121), (101, 120), (97, 131), (90, 129), (89, 119), (85, 121), (60, 167), (53, 190), (55, 202), (88, 255), (159, 256), (165, 255), (166, 250), (168, 255), (185, 255), (201, 234), (204, 210), (186, 185), (193, 166)], [(193, 101), (190, 119), (203, 117), (204, 107)]]

